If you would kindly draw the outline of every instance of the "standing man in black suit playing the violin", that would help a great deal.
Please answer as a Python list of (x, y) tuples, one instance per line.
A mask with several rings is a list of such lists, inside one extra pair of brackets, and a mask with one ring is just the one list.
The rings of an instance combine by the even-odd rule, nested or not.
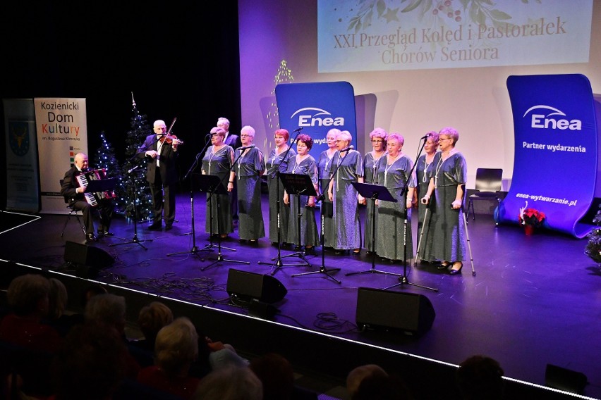
[(150, 183), (154, 213), (152, 225), (148, 226), (148, 230), (162, 230), (163, 219), (165, 230), (171, 230), (175, 220), (177, 148), (183, 142), (171, 135), (171, 127), (167, 131), (164, 120), (154, 121), (154, 134), (147, 136), (144, 144), (138, 149), (138, 157), (148, 159), (146, 180)]

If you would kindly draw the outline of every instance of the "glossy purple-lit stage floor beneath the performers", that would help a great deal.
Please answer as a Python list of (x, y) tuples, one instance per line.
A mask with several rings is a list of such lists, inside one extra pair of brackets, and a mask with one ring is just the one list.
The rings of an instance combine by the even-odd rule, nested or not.
[[(317, 249), (316, 256), (306, 257), (310, 266), (288, 265), (303, 264), (303, 260), (288, 256), (293, 251), (282, 248), (284, 265), (275, 268), (277, 246), (268, 238), (260, 239), (256, 246), (239, 243), (237, 231), (221, 242), (220, 254), (225, 260), (214, 263), (211, 258), (219, 256), (219, 244), (209, 242), (205, 233), (204, 195), (190, 200), (190, 194), (178, 195), (177, 222), (169, 232), (150, 232), (146, 223), (135, 230), (131, 220), (115, 218), (111, 230), (116, 237), (92, 244), (114, 257), (115, 263), (99, 270), (95, 279), (248, 313), (229, 302), (229, 270), (273, 274), (287, 289), (284, 299), (274, 304), (279, 311), (273, 319), (278, 323), (444, 363), (459, 364), (474, 354), (485, 354), (499, 361), (507, 377), (538, 385), (545, 385), (547, 364), (557, 365), (585, 374), (590, 382), (585, 395), (601, 398), (597, 358), (601, 354), (601, 273), (584, 254), (586, 239), (545, 231), (526, 236), (518, 225), (496, 227), (491, 215), (476, 215), (468, 223), (475, 275), (470, 260), (464, 262), (463, 274), (458, 276), (431, 265), (406, 265), (408, 282), (423, 287), (399, 285), (387, 291), (426, 296), (436, 315), (431, 329), (421, 337), (399, 334), (390, 339), (391, 335), (365, 335), (356, 329), (358, 288), (384, 289), (398, 284), (399, 277), (391, 273), (405, 275), (403, 264), (380, 258), (372, 264), (365, 249), (359, 257), (325, 251), (323, 258)], [(263, 215), (267, 230), (266, 195)], [(0, 258), (75, 273), (64, 260), (67, 241), (83, 243), (75, 219), (61, 237), (66, 215), (41, 216), (0, 236)], [(140, 243), (123, 244), (134, 238)], [(415, 229), (413, 243), (417, 246)], [(205, 246), (210, 249), (205, 251)], [(331, 273), (334, 279), (320, 272), (332, 268), (341, 269)], [(293, 276), (308, 272), (314, 273)], [(387, 312), (398, 311), (391, 308)]]

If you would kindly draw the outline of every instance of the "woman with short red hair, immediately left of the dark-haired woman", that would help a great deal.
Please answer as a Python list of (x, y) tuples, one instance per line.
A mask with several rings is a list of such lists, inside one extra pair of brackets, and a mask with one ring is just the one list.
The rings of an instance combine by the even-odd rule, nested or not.
[[(284, 185), (281, 184), (279, 173), (288, 169), (290, 158), (296, 156), (293, 149), (289, 149), (290, 134), (285, 129), (274, 133), (275, 149), (269, 152), (267, 158), (267, 188), (269, 189), (269, 240), (272, 244), (288, 244), (288, 220), (290, 206), (284, 204)], [(284, 158), (285, 157), (285, 158)], [(279, 214), (279, 230), (278, 230)]]

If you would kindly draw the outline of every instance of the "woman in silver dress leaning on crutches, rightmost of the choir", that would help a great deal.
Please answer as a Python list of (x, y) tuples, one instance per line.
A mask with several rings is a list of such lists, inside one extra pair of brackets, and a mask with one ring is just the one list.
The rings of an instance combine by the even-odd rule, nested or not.
[(438, 135), (441, 151), (435, 154), (432, 161), (434, 170), (430, 175), (427, 193), (421, 199), (422, 204), (430, 204), (432, 211), (432, 218), (427, 221), (427, 229), (431, 234), (426, 239), (431, 242), (431, 249), (430, 254), (425, 254), (423, 258), (439, 260), (442, 262), (440, 268), (450, 267), (449, 274), (459, 275), (466, 256), (466, 231), (461, 206), (467, 164), (466, 158), (455, 148), (459, 132), (452, 127), (444, 127)]

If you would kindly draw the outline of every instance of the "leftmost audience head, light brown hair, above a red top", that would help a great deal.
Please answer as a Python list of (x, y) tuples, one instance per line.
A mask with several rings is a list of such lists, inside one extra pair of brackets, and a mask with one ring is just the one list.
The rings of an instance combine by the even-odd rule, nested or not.
[(37, 315), (45, 318), (49, 309), (50, 282), (38, 274), (15, 277), (8, 285), (6, 297), (16, 315)]

